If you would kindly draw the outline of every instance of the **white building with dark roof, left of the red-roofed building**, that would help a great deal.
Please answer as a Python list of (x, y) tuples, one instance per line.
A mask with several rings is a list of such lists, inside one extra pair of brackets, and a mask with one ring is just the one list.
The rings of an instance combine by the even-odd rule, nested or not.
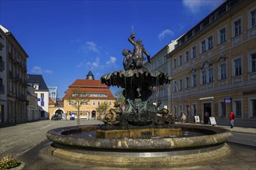
[(27, 83), (35, 89), (41, 119), (49, 119), (49, 90), (43, 80), (43, 76), (39, 74), (28, 74)]

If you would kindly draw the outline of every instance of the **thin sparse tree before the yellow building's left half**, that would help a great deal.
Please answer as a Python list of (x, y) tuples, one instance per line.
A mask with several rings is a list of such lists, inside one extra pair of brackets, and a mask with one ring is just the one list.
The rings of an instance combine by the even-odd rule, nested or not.
[(83, 92), (81, 88), (72, 89), (71, 95), (65, 97), (65, 99), (72, 107), (78, 110), (78, 125), (80, 125), (80, 109), (83, 104), (89, 101), (88, 93)]

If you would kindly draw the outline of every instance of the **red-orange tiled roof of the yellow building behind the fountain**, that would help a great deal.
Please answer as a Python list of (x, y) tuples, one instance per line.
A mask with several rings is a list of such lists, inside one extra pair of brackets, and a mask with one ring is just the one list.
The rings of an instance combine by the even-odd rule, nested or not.
[(106, 86), (106, 84), (102, 84), (100, 80), (82, 80), (78, 79), (75, 80), (74, 83), (72, 83), (64, 98), (71, 97), (71, 94), (74, 93), (74, 91), (77, 91), (78, 93), (101, 93), (101, 94), (107, 94), (107, 97), (88, 97), (90, 99), (112, 99), (115, 100), (116, 98), (112, 95), (111, 90), (109, 87)]

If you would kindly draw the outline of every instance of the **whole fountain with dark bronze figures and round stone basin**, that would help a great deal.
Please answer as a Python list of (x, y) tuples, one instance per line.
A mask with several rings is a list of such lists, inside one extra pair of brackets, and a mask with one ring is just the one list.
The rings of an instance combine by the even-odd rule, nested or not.
[(152, 88), (171, 83), (161, 71), (144, 67), (150, 55), (141, 40), (129, 37), (133, 52), (123, 49), (124, 70), (102, 76), (108, 86), (122, 87), (126, 109), (109, 110), (104, 124), (57, 128), (47, 132), (52, 155), (73, 162), (115, 167), (175, 167), (206, 163), (230, 153), (230, 131), (192, 124), (175, 124), (167, 109), (150, 112)]

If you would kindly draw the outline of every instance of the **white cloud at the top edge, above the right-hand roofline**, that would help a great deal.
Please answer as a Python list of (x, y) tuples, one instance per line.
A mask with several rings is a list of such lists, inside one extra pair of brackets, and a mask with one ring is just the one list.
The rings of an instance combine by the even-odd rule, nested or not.
[(182, 4), (189, 8), (192, 13), (198, 13), (202, 8), (213, 10), (221, 5), (225, 0), (183, 0)]

